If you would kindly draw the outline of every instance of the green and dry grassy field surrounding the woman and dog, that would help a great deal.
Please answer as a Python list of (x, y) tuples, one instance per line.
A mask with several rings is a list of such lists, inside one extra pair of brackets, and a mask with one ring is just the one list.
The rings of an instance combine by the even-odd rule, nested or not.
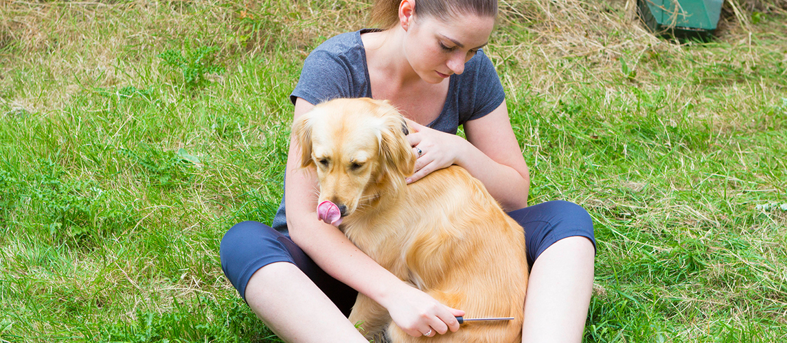
[[(700, 44), (631, 1), (501, 0), (531, 204), (595, 224), (585, 341), (787, 341), (780, 1), (727, 2)], [(219, 242), (270, 223), (302, 61), (368, 9), (0, 2), (0, 342), (278, 341)]]

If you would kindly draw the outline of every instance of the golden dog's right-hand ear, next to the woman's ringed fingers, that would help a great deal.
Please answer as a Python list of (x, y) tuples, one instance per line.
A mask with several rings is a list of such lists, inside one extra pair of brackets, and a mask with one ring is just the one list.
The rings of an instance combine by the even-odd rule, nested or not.
[(383, 117), (384, 125), (380, 132), (380, 154), (382, 172), (395, 179), (405, 179), (416, 168), (416, 159), (410, 149), (403, 128), (407, 123), (398, 112)]

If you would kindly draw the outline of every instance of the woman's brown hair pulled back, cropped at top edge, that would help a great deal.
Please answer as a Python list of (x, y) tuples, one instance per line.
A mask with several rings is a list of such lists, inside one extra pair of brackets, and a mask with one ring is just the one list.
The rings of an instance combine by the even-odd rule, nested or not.
[[(371, 22), (381, 28), (393, 28), (399, 22), (400, 4), (401, 0), (375, 0)], [(413, 13), (442, 21), (449, 21), (456, 14), (497, 17), (497, 0), (416, 0)]]

